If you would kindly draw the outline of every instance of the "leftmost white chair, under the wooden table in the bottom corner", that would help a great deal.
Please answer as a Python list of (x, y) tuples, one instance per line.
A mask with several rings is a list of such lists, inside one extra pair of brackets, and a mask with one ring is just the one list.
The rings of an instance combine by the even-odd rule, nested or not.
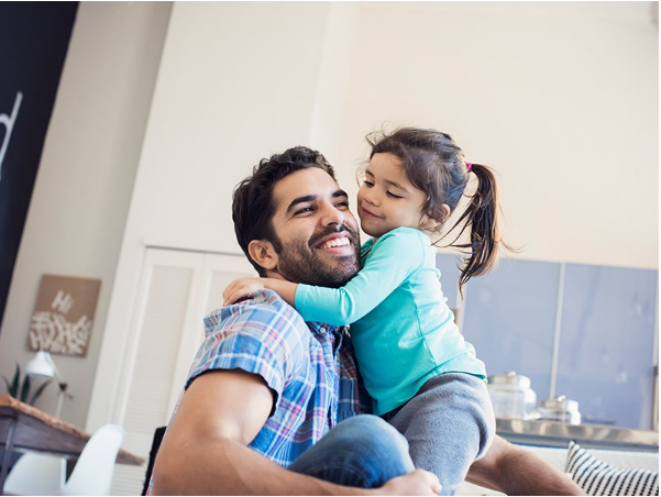
[(4, 481), (7, 495), (55, 495), (66, 478), (66, 460), (57, 455), (27, 452), (16, 461)]

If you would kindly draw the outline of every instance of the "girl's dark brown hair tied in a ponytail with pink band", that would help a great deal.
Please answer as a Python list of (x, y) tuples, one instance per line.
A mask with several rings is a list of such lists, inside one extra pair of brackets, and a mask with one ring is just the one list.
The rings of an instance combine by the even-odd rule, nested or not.
[[(370, 158), (375, 154), (390, 153), (401, 159), (408, 179), (419, 190), (427, 194), (422, 211), (439, 221), (443, 219), (442, 205), (453, 212), (464, 195), (470, 173), (477, 177), (477, 190), (470, 197), (466, 210), (454, 225), (452, 232), (463, 224), (452, 243), (447, 246), (462, 248), (465, 257), (460, 267), (460, 290), (473, 276), (488, 273), (497, 263), (498, 244), (510, 247), (500, 240), (498, 218), (500, 206), (496, 177), (491, 168), (480, 164), (466, 167), (463, 151), (452, 137), (440, 131), (418, 128), (400, 128), (393, 133), (371, 133), (366, 136), (372, 146)], [(458, 244), (456, 241), (471, 228), (471, 243)]]

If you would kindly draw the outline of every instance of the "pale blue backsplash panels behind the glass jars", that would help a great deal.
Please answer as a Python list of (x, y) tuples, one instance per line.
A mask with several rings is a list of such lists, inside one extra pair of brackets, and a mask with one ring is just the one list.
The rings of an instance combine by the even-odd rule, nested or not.
[[(456, 262), (437, 256), (453, 308)], [(651, 269), (502, 259), (466, 285), (459, 321), (489, 375), (528, 376), (538, 400), (554, 384), (557, 396), (579, 402), (583, 422), (650, 429), (658, 278)]]

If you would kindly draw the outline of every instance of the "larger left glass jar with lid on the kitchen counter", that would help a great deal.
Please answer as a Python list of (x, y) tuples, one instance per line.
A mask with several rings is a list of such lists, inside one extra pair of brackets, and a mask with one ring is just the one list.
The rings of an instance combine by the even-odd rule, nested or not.
[(537, 394), (530, 388), (530, 378), (514, 371), (487, 378), (486, 389), (496, 418), (530, 419), (537, 404)]

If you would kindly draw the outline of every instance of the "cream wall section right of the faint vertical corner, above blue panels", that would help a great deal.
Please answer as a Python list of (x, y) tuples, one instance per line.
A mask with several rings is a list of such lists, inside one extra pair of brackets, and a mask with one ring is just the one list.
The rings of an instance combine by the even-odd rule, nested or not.
[(498, 172), (516, 257), (659, 267), (650, 3), (367, 2), (359, 33), (339, 164), (386, 121), (437, 128)]

